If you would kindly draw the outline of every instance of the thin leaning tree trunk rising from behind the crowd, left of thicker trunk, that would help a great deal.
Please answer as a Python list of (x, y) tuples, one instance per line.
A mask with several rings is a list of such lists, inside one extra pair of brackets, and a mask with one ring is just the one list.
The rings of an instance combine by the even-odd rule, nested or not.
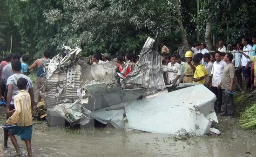
[(178, 21), (178, 27), (180, 28), (180, 36), (182, 38), (184, 51), (186, 52), (189, 50), (189, 44), (188, 44), (186, 32), (185, 32), (183, 24), (182, 24), (182, 14), (181, 14), (181, 9), (180, 9), (180, 2), (179, 2), (179, 0), (173, 0), (173, 1), (174, 1), (174, 6), (176, 8), (176, 18)]

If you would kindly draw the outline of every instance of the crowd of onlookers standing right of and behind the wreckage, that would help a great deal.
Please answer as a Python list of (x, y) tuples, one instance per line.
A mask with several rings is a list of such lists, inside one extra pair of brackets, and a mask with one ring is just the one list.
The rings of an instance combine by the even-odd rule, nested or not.
[[(162, 65), (177, 71), (164, 74), (165, 83), (203, 84), (216, 94), (214, 109), (221, 116), (234, 116), (235, 83), (242, 87), (242, 78), (245, 78), (242, 93), (249, 92), (249, 87), (256, 87), (255, 62), (256, 36), (252, 37), (252, 42), (249, 37), (244, 37), (242, 43), (228, 44), (227, 48), (223, 41), (219, 41), (214, 52), (210, 52), (205, 43), (195, 44), (195, 47), (189, 43), (189, 51), (184, 53), (180, 43), (178, 50), (171, 54), (162, 43)], [(256, 89), (252, 93), (256, 93)]]

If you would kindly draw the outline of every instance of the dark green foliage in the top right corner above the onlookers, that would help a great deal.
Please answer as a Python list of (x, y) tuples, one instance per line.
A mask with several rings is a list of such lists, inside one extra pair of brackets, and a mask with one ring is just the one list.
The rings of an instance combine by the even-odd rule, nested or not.
[[(205, 32), (207, 21), (213, 25), (212, 34), (216, 41), (223, 40), (226, 44), (241, 42), (244, 36), (250, 36), (256, 31), (254, 0), (201, 0), (198, 30)], [(252, 26), (254, 25), (254, 26)]]

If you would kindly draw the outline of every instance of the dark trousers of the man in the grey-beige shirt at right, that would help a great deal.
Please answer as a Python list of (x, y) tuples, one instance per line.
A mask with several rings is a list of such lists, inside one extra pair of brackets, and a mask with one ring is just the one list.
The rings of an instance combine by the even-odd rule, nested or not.
[(228, 89), (222, 89), (222, 109), (221, 115), (228, 113), (230, 117), (234, 116), (234, 99), (233, 94), (228, 93)]

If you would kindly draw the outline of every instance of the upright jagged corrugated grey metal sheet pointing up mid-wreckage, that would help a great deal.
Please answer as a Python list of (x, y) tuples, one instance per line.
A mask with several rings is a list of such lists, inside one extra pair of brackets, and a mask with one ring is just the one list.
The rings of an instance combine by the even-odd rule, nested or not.
[(155, 50), (151, 50), (154, 43), (154, 39), (147, 39), (141, 49), (138, 68), (125, 78), (126, 84), (141, 85), (142, 88), (146, 88), (148, 94), (154, 94), (166, 88), (161, 68), (161, 56)]

